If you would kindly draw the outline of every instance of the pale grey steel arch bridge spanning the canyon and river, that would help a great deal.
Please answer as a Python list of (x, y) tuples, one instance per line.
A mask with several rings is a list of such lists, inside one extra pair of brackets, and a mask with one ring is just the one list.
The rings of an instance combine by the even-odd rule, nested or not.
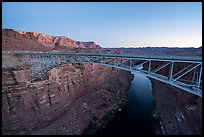
[(202, 97), (202, 57), (26, 51), (18, 51), (16, 54), (30, 65), (32, 80), (42, 78), (48, 70), (62, 64), (98, 64), (132, 73), (139, 71), (150, 78)]

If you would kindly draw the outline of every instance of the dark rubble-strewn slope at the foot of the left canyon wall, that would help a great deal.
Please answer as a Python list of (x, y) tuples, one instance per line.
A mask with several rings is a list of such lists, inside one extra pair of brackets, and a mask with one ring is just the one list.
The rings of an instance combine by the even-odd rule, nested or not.
[[(117, 92), (117, 93), (115, 93)], [(100, 90), (88, 93), (76, 100), (62, 117), (47, 127), (34, 131), (32, 135), (81, 135), (94, 134), (104, 127), (108, 119), (104, 117), (114, 114), (127, 101), (123, 91)], [(94, 125), (94, 127), (93, 127)], [(90, 128), (90, 126), (92, 126)], [(85, 130), (89, 127), (89, 131)]]

